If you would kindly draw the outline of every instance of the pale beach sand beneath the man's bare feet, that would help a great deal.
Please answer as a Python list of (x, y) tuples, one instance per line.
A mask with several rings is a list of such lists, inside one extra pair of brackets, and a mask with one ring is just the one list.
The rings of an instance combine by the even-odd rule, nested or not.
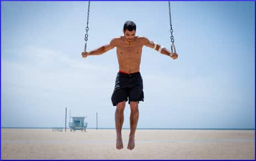
[(255, 159), (255, 130), (137, 130), (135, 149), (115, 130), (1, 129), (1, 159)]

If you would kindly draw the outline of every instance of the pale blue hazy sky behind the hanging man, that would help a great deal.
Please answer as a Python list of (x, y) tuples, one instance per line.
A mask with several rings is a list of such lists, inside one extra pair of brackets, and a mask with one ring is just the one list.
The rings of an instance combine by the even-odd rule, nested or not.
[[(140, 128), (254, 128), (254, 2), (172, 2), (179, 58), (143, 47), (145, 102)], [(88, 127), (115, 127), (111, 104), (118, 72), (116, 49), (87, 59), (88, 2), (1, 2), (1, 126), (65, 125), (88, 116)], [(168, 2), (92, 2), (91, 50), (122, 35), (126, 20), (136, 35), (170, 49)], [(68, 114), (69, 115), (69, 114)], [(129, 127), (126, 104), (123, 127)]]

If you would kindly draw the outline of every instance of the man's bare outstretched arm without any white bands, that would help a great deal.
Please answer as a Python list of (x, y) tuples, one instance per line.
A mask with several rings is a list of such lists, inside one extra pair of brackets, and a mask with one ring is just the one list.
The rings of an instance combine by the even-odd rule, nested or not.
[(116, 44), (116, 38), (113, 38), (113, 40), (111, 40), (110, 43), (107, 45), (104, 45), (102, 47), (94, 49), (90, 52), (86, 52), (86, 53), (82, 52), (82, 57), (86, 58), (86, 57), (88, 57), (88, 55), (101, 55), (101, 54), (113, 49), (116, 46), (115, 44)]

